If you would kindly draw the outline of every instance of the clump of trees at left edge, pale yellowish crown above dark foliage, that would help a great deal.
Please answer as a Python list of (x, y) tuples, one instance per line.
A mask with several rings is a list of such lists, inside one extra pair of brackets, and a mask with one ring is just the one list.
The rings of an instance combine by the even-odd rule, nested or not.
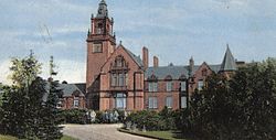
[(57, 83), (38, 77), (40, 64), (30, 55), (12, 61), (14, 85), (3, 87), (0, 109), (0, 132), (23, 139), (60, 139), (56, 105), (61, 91)]

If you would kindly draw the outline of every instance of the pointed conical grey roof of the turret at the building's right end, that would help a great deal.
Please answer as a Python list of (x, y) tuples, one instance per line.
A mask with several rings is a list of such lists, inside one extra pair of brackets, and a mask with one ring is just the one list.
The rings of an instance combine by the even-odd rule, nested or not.
[(232, 55), (229, 44), (227, 44), (227, 49), (224, 55), (224, 58), (222, 61), (221, 64), (221, 72), (225, 72), (225, 71), (236, 71), (236, 63), (234, 60), (234, 56)]

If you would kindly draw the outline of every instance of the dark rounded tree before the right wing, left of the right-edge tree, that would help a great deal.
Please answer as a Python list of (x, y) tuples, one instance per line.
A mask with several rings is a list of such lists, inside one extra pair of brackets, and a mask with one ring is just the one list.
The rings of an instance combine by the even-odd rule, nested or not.
[(233, 114), (227, 85), (223, 76), (212, 74), (206, 78), (203, 90), (195, 90), (191, 111), (187, 110), (184, 114), (184, 118), (188, 119), (185, 123), (188, 133), (212, 140), (229, 137)]

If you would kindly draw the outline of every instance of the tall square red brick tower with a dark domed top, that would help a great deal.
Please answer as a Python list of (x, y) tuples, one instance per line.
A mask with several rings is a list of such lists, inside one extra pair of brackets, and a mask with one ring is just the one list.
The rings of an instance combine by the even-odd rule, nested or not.
[(116, 37), (113, 31), (114, 20), (109, 19), (107, 4), (102, 0), (96, 17), (91, 17), (91, 29), (87, 33), (87, 67), (86, 67), (86, 97), (87, 107), (97, 109), (99, 91), (100, 67), (116, 47)]

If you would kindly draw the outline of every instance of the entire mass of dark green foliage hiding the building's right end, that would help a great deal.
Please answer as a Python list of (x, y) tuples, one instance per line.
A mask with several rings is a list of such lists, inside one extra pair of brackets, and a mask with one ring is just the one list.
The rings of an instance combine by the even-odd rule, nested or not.
[(276, 61), (268, 58), (235, 72), (231, 80), (214, 74), (182, 112), (185, 134), (204, 140), (276, 139)]

